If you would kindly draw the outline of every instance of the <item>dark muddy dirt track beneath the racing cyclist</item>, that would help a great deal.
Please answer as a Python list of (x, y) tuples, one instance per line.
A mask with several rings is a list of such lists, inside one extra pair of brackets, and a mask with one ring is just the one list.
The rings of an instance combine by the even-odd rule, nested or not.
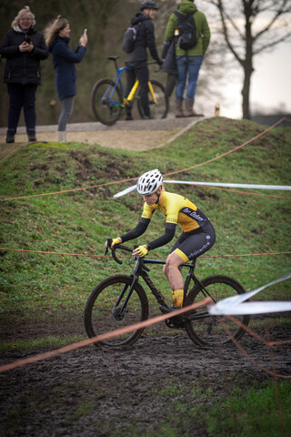
[[(290, 328), (291, 323), (268, 328), (267, 335), (272, 340), (290, 339)], [(82, 329), (80, 325), (75, 331)], [(27, 337), (34, 330), (39, 331), (36, 325), (26, 326)], [(265, 329), (256, 332), (266, 338)], [(176, 412), (175, 435), (210, 436), (199, 415), (191, 417), (187, 411), (202, 404), (211, 408), (217, 398), (229, 396), (235, 383), (247, 390), (254, 381), (272, 379), (251, 361), (272, 371), (266, 346), (249, 334), (240, 344), (250, 358), (233, 344), (200, 349), (184, 331), (164, 330), (163, 324), (160, 335), (145, 331), (125, 349), (87, 346), (6, 371), (0, 374), (0, 432), (7, 437), (160, 436), (168, 434), (155, 431), (161, 423), (170, 425)], [(5, 352), (0, 363), (36, 353)], [(274, 357), (276, 372), (290, 375), (291, 346), (275, 346)]]

